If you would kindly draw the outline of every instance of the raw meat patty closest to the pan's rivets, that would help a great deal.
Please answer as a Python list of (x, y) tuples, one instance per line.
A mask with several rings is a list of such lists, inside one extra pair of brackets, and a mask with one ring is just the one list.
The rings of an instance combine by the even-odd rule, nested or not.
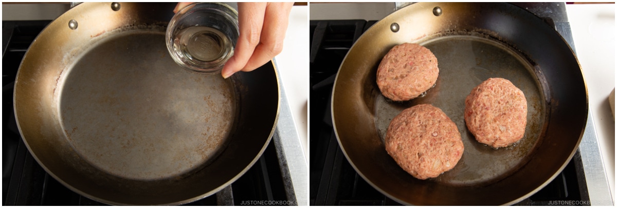
[(418, 44), (394, 46), (379, 63), (377, 85), (395, 101), (411, 100), (437, 81), (439, 68), (431, 50)]

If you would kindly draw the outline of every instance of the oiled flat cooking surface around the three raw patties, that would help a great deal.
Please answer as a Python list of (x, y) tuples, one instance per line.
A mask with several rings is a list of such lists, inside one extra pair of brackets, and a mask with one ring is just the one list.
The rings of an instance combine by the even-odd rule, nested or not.
[[(375, 94), (375, 125), (382, 142), (391, 119), (410, 106), (429, 103), (444, 111), (457, 124), (465, 151), (462, 159), (437, 183), (475, 186), (495, 182), (518, 170), (540, 142), (545, 120), (544, 95), (531, 65), (500, 42), (474, 35), (426, 38), (420, 42), (439, 60), (439, 78), (426, 96), (407, 102), (392, 102)], [(505, 78), (523, 90), (528, 100), (527, 128), (519, 143), (495, 150), (476, 141), (465, 126), (465, 98), (473, 87), (488, 78)]]

